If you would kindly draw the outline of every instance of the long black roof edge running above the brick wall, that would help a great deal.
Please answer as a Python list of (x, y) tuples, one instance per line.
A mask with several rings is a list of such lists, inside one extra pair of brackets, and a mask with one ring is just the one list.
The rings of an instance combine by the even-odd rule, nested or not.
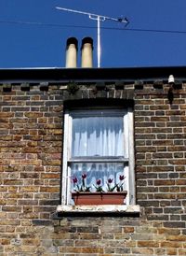
[(173, 75), (186, 80), (186, 66), (161, 67), (109, 67), (109, 68), (3, 68), (0, 83), (20, 81), (109, 81), (109, 80), (154, 80)]

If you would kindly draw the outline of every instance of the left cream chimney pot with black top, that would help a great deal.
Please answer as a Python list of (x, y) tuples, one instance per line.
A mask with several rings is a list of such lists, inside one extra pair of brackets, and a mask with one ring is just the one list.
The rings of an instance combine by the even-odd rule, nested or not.
[(77, 67), (77, 45), (78, 41), (75, 37), (67, 39), (66, 45), (66, 67)]

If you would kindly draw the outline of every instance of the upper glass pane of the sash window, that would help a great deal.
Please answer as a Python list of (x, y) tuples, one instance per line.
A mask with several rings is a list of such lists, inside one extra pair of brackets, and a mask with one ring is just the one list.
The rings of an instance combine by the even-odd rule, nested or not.
[(123, 117), (73, 117), (72, 157), (124, 156)]

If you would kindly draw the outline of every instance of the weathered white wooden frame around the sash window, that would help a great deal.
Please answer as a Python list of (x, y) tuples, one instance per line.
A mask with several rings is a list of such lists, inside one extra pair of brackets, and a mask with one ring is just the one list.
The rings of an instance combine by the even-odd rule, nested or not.
[[(96, 107), (91, 108), (94, 112), (96, 111)], [(99, 107), (100, 109), (100, 107)], [(117, 116), (118, 111), (124, 112), (124, 135), (127, 145), (127, 158), (123, 160), (123, 162), (128, 163), (126, 168), (128, 168), (128, 172), (125, 173), (126, 176), (126, 205), (135, 205), (136, 198), (135, 198), (135, 173), (134, 173), (134, 121), (133, 121), (133, 109), (132, 107), (110, 107), (110, 108), (103, 108), (101, 109), (109, 111), (113, 116)], [(71, 167), (69, 163), (71, 163), (71, 145), (72, 145), (72, 123), (73, 117), (72, 113), (84, 113), (83, 108), (81, 109), (71, 109), (65, 110), (64, 113), (64, 134), (63, 134), (63, 164), (62, 164), (62, 178), (61, 178), (61, 205), (63, 206), (70, 206), (72, 205), (72, 198), (71, 198)], [(121, 116), (121, 114), (120, 114)], [(125, 149), (126, 150), (126, 149)], [(82, 161), (81, 161), (82, 162)], [(104, 162), (104, 161), (103, 161)], [(111, 161), (113, 162), (113, 160)], [(128, 177), (127, 177), (128, 175)]]

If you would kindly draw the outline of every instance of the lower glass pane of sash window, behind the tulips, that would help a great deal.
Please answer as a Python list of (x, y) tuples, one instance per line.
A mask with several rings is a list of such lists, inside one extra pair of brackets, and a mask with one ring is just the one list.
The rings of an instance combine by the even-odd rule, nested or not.
[[(90, 187), (91, 192), (96, 191), (97, 180), (100, 179), (100, 185), (103, 191), (108, 191), (108, 179), (111, 178), (113, 182), (110, 183), (110, 186), (113, 188), (117, 183), (122, 185), (123, 190), (126, 190), (126, 172), (125, 166), (123, 163), (78, 163), (71, 164), (72, 170), (72, 191), (77, 190), (77, 185), (81, 188), (82, 185), (82, 175), (86, 174), (86, 187)], [(124, 179), (121, 180), (121, 177)], [(74, 179), (77, 179), (76, 182), (73, 182)], [(110, 180), (110, 181), (111, 181)], [(115, 189), (116, 190), (116, 189)]]

